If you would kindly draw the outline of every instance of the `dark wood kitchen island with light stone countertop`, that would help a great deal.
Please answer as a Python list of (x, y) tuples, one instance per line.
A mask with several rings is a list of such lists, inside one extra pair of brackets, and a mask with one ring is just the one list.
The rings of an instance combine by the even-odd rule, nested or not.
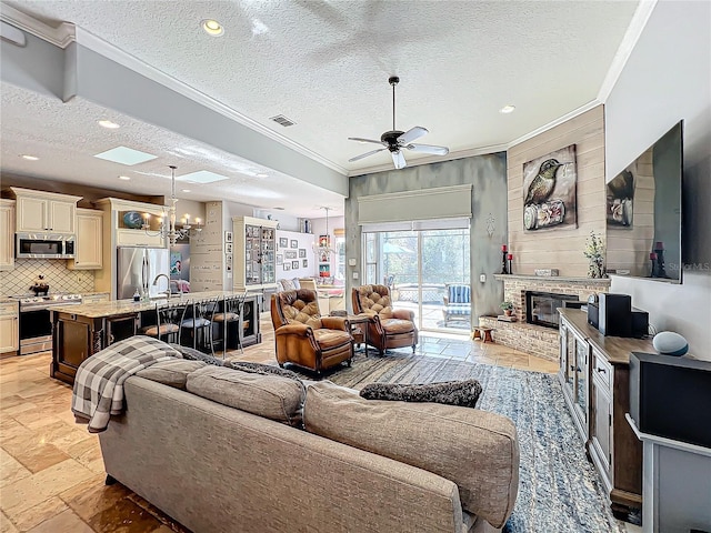
[[(241, 296), (230, 291), (207, 291), (174, 294), (170, 303), (192, 304), (196, 301), (223, 301), (227, 296)], [(52, 363), (50, 375), (73, 384), (79, 365), (100, 350), (117, 341), (138, 334), (144, 324), (156, 323), (156, 306), (167, 303), (167, 298), (134, 302), (113, 300), (109, 302), (57, 305), (52, 308)], [(259, 312), (261, 294), (248, 294), (239, 321), (232, 323), (236, 334), (228, 349), (237, 349), (238, 335), (242, 346), (261, 342)]]

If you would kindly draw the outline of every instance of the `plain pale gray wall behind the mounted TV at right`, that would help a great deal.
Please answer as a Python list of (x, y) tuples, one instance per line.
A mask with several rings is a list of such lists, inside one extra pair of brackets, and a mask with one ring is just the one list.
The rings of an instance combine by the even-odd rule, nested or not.
[(605, 102), (605, 175), (684, 120), (683, 283), (612, 278), (658, 330), (711, 360), (711, 3), (660, 1)]

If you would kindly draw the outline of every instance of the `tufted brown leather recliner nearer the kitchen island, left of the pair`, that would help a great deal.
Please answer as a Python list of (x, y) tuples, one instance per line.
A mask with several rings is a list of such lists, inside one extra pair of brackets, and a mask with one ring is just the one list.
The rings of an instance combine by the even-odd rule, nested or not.
[(318, 373), (343, 361), (350, 366), (350, 323), (342, 316), (320, 316), (316, 291), (299, 289), (272, 294), (271, 321), (279, 366), (293, 363)]

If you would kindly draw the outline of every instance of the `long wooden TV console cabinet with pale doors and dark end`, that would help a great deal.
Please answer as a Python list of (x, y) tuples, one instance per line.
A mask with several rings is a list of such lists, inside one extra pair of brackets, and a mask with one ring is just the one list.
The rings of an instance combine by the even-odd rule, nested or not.
[(610, 497), (624, 517), (642, 506), (642, 445), (627, 423), (630, 411), (630, 352), (654, 352), (642, 339), (604, 336), (578, 309), (560, 312), (560, 371), (563, 398)]

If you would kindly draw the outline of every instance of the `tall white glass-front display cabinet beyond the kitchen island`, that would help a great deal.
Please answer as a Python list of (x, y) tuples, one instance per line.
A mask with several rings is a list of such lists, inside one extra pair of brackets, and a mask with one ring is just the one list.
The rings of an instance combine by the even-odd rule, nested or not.
[(234, 291), (277, 289), (277, 224), (252, 217), (232, 219)]

